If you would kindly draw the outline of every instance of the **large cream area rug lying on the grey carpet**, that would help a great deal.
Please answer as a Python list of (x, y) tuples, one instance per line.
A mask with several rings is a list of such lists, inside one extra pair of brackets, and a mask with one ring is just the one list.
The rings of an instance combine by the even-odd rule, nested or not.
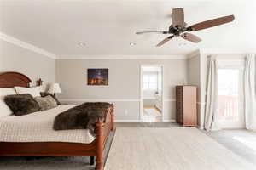
[(196, 128), (119, 127), (105, 170), (255, 170)]

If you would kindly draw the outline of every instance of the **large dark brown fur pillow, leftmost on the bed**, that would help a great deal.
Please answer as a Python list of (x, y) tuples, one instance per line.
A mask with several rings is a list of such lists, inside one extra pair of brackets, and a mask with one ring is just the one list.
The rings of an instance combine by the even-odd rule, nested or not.
[(15, 94), (4, 97), (5, 103), (14, 112), (15, 116), (27, 115), (39, 111), (38, 102), (31, 94)]

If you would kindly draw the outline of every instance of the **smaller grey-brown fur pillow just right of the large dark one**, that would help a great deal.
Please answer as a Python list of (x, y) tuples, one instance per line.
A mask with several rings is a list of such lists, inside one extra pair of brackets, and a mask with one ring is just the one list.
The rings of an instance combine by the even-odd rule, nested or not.
[(39, 105), (40, 111), (46, 111), (57, 107), (57, 102), (50, 95), (45, 97), (35, 97), (34, 98)]

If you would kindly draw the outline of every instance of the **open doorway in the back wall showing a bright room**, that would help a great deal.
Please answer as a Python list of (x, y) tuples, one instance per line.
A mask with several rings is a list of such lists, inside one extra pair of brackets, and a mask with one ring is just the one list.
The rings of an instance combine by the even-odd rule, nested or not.
[(141, 110), (142, 122), (163, 120), (163, 66), (141, 66)]

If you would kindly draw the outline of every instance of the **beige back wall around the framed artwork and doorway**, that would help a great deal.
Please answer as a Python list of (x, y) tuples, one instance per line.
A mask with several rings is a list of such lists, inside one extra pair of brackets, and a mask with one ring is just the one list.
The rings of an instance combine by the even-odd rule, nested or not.
[[(187, 82), (185, 59), (57, 59), (59, 97), (67, 103), (109, 101), (116, 105), (116, 119), (139, 121), (140, 66), (164, 65), (164, 119), (175, 119), (175, 86)], [(87, 68), (108, 68), (108, 86), (87, 86)]]

